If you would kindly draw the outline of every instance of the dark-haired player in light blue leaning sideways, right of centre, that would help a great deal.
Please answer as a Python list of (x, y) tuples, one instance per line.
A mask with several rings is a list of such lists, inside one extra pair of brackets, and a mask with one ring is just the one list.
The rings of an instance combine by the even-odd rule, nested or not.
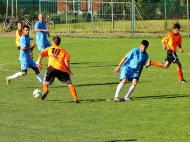
[(147, 40), (143, 40), (141, 42), (140, 48), (134, 48), (128, 52), (121, 59), (119, 65), (115, 68), (116, 73), (120, 71), (120, 82), (115, 92), (115, 97), (113, 99), (114, 102), (122, 101), (119, 98), (121, 89), (127, 81), (131, 81), (131, 86), (129, 87), (124, 97), (124, 101), (129, 101), (129, 96), (134, 91), (143, 67), (146, 65), (146, 62), (148, 60), (148, 54), (146, 52), (148, 45), (149, 42)]

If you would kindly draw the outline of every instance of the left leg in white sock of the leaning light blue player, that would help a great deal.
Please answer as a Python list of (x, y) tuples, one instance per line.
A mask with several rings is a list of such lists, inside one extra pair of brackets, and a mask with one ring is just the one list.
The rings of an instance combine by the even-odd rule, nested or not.
[(114, 99), (113, 99), (114, 102), (121, 102), (121, 101), (122, 101), (122, 100), (119, 98), (119, 95), (120, 95), (120, 92), (121, 92), (121, 90), (122, 90), (122, 88), (123, 88), (123, 86), (125, 85), (126, 82), (127, 82), (126, 79), (122, 79), (122, 80), (119, 82), (119, 84), (118, 84), (118, 86), (117, 86), (117, 89), (116, 89), (116, 92), (115, 92)]

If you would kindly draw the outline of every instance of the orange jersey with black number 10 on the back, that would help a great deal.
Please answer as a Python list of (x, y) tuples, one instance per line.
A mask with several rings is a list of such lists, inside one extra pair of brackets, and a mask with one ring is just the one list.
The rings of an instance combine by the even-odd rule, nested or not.
[(68, 72), (65, 61), (70, 62), (70, 56), (64, 48), (60, 46), (51, 46), (44, 49), (41, 54), (48, 57), (48, 66), (63, 72)]

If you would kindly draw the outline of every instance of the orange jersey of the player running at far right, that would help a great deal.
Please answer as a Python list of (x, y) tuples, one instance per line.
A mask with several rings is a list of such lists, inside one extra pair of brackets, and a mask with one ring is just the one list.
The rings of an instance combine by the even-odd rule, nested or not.
[(162, 43), (167, 45), (168, 50), (172, 50), (172, 51), (176, 52), (177, 47), (181, 48), (182, 36), (180, 33), (175, 35), (173, 32), (169, 32), (162, 39)]

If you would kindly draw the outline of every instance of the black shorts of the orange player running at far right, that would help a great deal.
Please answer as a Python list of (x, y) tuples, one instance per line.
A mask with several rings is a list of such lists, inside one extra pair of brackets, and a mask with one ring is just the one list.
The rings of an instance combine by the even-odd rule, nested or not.
[(176, 52), (172, 51), (172, 50), (168, 50), (167, 51), (167, 58), (165, 59), (166, 61), (169, 62), (169, 64), (171, 63), (179, 63), (179, 58), (176, 54)]

